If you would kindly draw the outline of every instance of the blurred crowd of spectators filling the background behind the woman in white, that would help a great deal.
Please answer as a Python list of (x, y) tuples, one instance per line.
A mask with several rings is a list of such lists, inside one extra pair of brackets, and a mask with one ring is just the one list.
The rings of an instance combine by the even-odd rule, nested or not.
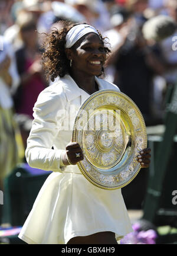
[(176, 82), (177, 0), (0, 0), (1, 190), (25, 148), (38, 94), (51, 85), (41, 44), (60, 20), (96, 27), (112, 50), (104, 79), (132, 98), (147, 126), (163, 122)]

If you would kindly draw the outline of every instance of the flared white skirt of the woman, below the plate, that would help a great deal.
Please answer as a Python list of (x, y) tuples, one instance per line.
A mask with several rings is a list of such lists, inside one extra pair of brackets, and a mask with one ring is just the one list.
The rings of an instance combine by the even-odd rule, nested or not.
[(116, 239), (133, 231), (121, 189), (96, 187), (74, 165), (48, 176), (18, 237), (28, 244), (67, 244), (104, 231)]

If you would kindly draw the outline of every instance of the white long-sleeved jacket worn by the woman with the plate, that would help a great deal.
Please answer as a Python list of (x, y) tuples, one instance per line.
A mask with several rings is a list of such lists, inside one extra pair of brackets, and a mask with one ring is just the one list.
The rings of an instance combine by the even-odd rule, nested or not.
[[(101, 89), (116, 89), (116, 85), (96, 77)], [(70, 113), (77, 113), (89, 94), (80, 89), (70, 75), (58, 79), (42, 91), (34, 105), (34, 122), (27, 140), (26, 158), (31, 167), (60, 172), (61, 151), (71, 141), (72, 120)], [(54, 150), (51, 149), (54, 146)], [(75, 168), (76, 169), (76, 168)]]

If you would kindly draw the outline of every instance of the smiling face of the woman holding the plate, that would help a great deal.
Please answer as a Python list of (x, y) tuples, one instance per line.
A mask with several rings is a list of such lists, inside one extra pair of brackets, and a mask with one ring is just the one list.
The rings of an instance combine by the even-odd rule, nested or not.
[(106, 52), (104, 43), (96, 33), (81, 37), (71, 49), (68, 49), (68, 59), (72, 59), (72, 72), (80, 72), (84, 76), (101, 74)]

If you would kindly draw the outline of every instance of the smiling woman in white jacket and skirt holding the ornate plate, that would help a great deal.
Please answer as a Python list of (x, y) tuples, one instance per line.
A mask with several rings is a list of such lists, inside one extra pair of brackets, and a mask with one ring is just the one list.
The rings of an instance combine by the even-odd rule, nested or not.
[[(87, 24), (65, 25), (53, 31), (46, 43), (44, 67), (51, 81), (60, 78), (35, 103), (26, 156), (32, 167), (53, 173), (19, 238), (29, 244), (117, 244), (116, 239), (132, 232), (121, 190), (103, 190), (87, 181), (76, 165), (84, 158), (80, 145), (70, 142), (71, 130), (60, 129), (70, 108), (78, 109), (90, 94), (118, 89), (97, 78), (109, 49)], [(145, 151), (140, 156), (142, 167), (150, 162)]]

